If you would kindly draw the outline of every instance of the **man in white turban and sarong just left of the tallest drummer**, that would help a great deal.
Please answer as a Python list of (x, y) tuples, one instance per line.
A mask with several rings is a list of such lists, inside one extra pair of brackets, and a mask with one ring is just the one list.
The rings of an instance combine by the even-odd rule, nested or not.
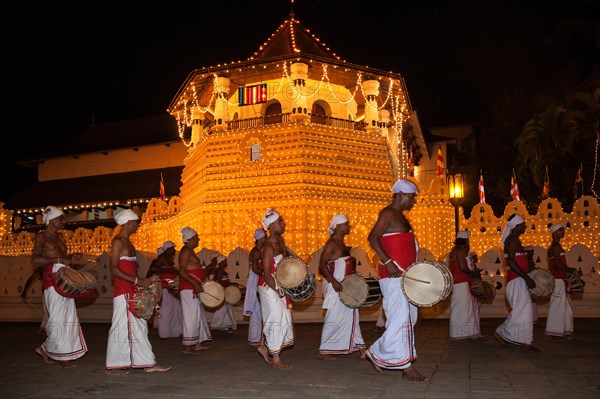
[(327, 309), (319, 359), (335, 360), (332, 354), (350, 354), (360, 351), (365, 358), (365, 341), (360, 330), (357, 308), (350, 308), (340, 300), (339, 292), (344, 277), (356, 273), (356, 259), (350, 256), (344, 237), (350, 233), (350, 223), (344, 214), (335, 215), (327, 229), (329, 240), (325, 243), (319, 260), (319, 271), (323, 275), (323, 309)]

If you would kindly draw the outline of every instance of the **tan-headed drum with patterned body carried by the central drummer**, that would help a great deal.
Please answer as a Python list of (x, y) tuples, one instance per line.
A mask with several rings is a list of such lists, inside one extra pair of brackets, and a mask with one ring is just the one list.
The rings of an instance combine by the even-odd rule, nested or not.
[(300, 258), (284, 258), (275, 269), (275, 281), (283, 292), (295, 302), (304, 301), (317, 289), (317, 281)]

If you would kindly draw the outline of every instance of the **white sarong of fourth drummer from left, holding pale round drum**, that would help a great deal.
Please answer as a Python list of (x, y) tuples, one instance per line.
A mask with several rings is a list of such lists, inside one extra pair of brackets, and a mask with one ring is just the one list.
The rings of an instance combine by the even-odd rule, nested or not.
[(179, 296), (183, 316), (183, 345), (211, 341), (210, 328), (198, 295), (194, 295), (193, 290), (181, 290)]

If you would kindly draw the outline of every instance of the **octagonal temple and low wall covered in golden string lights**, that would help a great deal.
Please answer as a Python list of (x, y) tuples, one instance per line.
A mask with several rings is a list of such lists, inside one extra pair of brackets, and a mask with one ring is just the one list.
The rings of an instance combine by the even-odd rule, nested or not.
[[(342, 60), (293, 15), (247, 60), (192, 71), (168, 112), (177, 121), (180, 141), (168, 149), (135, 150), (135, 156), (143, 157), (136, 161), (142, 168), (164, 159), (161, 153), (167, 150), (170, 159), (183, 167), (179, 195), (166, 201), (143, 200), (142, 223), (132, 237), (142, 255), (142, 269), (164, 241), (181, 247), (180, 231), (189, 226), (199, 234), (202, 260), (209, 262), (207, 254), (212, 251), (226, 255), (229, 274), (243, 284), (253, 232), (272, 207), (286, 222), (286, 244), (315, 273), (331, 218), (346, 214), (352, 226), (346, 244), (352, 247), (358, 269), (364, 275), (375, 274), (378, 259), (367, 236), (379, 210), (391, 200), (394, 181), (408, 175), (411, 153), (420, 159), (414, 179), (421, 193), (408, 215), (421, 248), (419, 260), (444, 261), (452, 247), (455, 209), (445, 176), (428, 174), (435, 171), (436, 154), (427, 150), (419, 133), (402, 76)], [(107, 157), (97, 156), (98, 163)], [(124, 156), (130, 160), (132, 152)], [(486, 204), (474, 207), (469, 219), (459, 211), (459, 227), (473, 233), (472, 250), (479, 254), (480, 267), (490, 281), (503, 281), (499, 241), (506, 218), (514, 212), (527, 215), (520, 202), (509, 203), (500, 217)], [(19, 288), (31, 272), (33, 233), (8, 231), (8, 211), (0, 218), (5, 229), (0, 241), (2, 319), (36, 320), (39, 314), (17, 305)], [(556, 200), (548, 199), (526, 219), (523, 242), (535, 246), (540, 267), (546, 265), (548, 224), (569, 223), (563, 246), (570, 248), (569, 261), (582, 270), (588, 283), (587, 302), (582, 302), (579, 314), (600, 316), (597, 200), (582, 197), (567, 214)], [(112, 285), (106, 252), (112, 232), (106, 226), (63, 232), (69, 250), (95, 259), (99, 272), (100, 296), (92, 306), (80, 309), (84, 321), (110, 320)], [(319, 288), (315, 298), (298, 304), (304, 312), (295, 317), (320, 320), (320, 295)], [(39, 288), (32, 297), (39, 298)], [(424, 312), (447, 315), (447, 305)], [(19, 314), (9, 310), (15, 306)], [(376, 310), (364, 312), (374, 316)], [(241, 320), (239, 307), (236, 312)], [(503, 291), (481, 312), (483, 317), (505, 315)]]

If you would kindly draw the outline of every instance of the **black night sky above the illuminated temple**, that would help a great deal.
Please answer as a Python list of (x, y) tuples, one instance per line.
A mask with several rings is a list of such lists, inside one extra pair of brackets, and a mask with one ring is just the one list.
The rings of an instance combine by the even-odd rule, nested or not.
[[(195, 68), (246, 59), (289, 15), (286, 0), (4, 1), (0, 200), (10, 163), (96, 123), (165, 112)], [(396, 9), (392, 9), (394, 7)], [(547, 73), (557, 23), (594, 0), (296, 0), (296, 19), (343, 59), (405, 77), (428, 126), (484, 121), (507, 86)]]

